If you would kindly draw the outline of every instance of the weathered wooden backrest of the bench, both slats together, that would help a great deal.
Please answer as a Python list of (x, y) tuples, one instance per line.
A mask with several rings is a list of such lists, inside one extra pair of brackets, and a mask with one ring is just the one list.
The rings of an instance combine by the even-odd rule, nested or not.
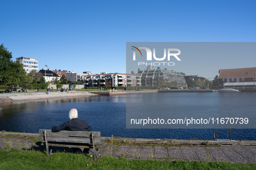
[[(40, 140), (45, 141), (45, 129), (39, 130)], [(92, 134), (94, 136), (94, 144), (101, 144), (100, 132), (91, 131), (66, 131), (59, 132), (46, 129), (46, 136), (48, 142), (70, 142), (92, 144)]]

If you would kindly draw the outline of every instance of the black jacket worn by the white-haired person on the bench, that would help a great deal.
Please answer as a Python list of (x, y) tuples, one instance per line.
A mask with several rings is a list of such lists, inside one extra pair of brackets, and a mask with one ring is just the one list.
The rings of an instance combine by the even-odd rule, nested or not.
[(91, 131), (91, 126), (87, 124), (87, 122), (83, 119), (74, 118), (60, 126), (53, 126), (52, 130), (54, 131), (62, 131), (62, 130), (69, 130), (69, 131)]

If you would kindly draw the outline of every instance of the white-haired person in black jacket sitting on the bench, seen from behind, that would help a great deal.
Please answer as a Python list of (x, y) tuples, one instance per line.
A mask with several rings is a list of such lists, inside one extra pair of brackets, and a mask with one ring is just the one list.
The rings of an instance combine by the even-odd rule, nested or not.
[[(69, 121), (63, 123), (60, 126), (53, 126), (53, 131), (91, 131), (91, 126), (87, 124), (87, 122), (83, 119), (78, 118), (78, 110), (71, 109), (68, 113)], [(73, 148), (74, 152), (78, 151), (78, 148)], [(89, 148), (84, 148), (84, 153), (88, 154)]]

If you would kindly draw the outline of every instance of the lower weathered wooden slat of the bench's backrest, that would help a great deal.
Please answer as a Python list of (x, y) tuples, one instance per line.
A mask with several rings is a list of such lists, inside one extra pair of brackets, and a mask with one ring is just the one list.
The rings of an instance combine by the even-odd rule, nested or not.
[[(46, 132), (47, 134), (47, 132)], [(45, 141), (45, 136), (40, 135), (40, 140)], [(92, 144), (91, 138), (80, 138), (80, 137), (68, 137), (68, 136), (52, 136), (47, 134), (47, 141), (48, 142), (70, 142), (70, 143), (89, 143)], [(95, 138), (95, 144), (100, 144), (101, 139)]]

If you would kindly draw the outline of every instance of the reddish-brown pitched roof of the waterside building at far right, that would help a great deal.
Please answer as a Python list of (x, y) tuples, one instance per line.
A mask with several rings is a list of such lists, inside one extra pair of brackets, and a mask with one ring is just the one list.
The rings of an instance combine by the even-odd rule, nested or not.
[(256, 77), (256, 67), (241, 69), (220, 69), (219, 72), (220, 75), (218, 79)]

